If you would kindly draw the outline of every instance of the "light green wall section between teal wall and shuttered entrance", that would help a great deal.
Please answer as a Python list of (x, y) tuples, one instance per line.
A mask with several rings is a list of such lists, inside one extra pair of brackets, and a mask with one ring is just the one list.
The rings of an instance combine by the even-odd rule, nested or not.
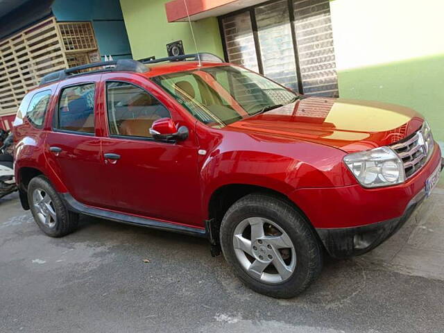
[[(168, 23), (168, 0), (120, 0), (131, 50), (135, 59), (168, 56), (167, 44), (182, 40), (185, 53), (196, 53), (188, 23)], [(216, 17), (192, 22), (198, 50), (223, 57)]]

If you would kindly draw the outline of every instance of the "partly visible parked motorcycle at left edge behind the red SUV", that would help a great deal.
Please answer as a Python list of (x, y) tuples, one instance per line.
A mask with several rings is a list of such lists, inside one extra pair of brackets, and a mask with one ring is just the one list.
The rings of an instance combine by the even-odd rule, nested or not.
[(3, 140), (0, 147), (0, 198), (17, 191), (14, 177), (14, 157), (12, 133)]

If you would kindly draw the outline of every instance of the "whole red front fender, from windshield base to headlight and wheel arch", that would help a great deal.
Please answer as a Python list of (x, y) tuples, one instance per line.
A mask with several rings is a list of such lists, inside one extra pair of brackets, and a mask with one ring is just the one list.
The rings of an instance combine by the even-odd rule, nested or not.
[(356, 183), (338, 148), (207, 128), (196, 123), (204, 215), (214, 191), (224, 185), (256, 185), (285, 196), (296, 189)]

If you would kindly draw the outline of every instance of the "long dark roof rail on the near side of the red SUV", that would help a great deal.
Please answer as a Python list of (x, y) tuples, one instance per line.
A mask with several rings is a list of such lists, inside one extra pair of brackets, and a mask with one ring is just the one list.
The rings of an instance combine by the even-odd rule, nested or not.
[[(77, 71), (82, 71), (83, 69), (90, 69), (94, 67), (105, 68), (97, 69), (95, 71), (76, 73)], [(52, 73), (46, 74), (40, 81), (40, 85), (45, 85), (46, 83), (59, 80), (65, 80), (65, 78), (67, 78), (68, 76), (74, 75), (86, 75), (103, 71), (135, 71), (136, 73), (144, 73), (148, 70), (149, 69), (144, 64), (142, 64), (142, 62), (133, 59), (93, 62), (92, 64), (80, 65), (68, 69), (61, 69), (60, 71), (53, 71)]]

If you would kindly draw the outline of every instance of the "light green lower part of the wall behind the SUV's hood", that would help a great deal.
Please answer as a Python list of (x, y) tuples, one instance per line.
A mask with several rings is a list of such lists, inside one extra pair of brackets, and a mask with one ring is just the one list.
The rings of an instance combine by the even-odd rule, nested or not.
[(407, 105), (424, 115), (444, 142), (444, 53), (339, 71), (339, 95)]

